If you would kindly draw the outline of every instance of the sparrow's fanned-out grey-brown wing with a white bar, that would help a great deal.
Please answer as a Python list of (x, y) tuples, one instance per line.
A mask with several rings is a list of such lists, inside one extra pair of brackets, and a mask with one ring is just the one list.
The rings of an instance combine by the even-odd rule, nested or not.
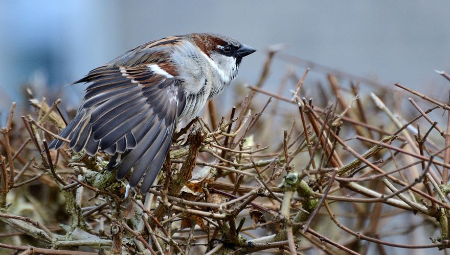
[[(105, 65), (77, 81), (92, 82), (75, 118), (60, 133), (75, 152), (113, 156), (109, 168), (118, 166), (120, 180), (134, 166), (129, 184), (147, 192), (169, 149), (177, 117), (185, 105), (180, 81), (162, 65), (133, 67)], [(50, 148), (58, 149), (61, 140)], [(144, 176), (144, 177), (143, 177)]]

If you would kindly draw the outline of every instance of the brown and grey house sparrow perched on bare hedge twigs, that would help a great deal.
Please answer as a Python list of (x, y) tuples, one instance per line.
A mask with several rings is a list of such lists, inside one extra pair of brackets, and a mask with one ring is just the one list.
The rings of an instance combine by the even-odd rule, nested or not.
[[(75, 118), (61, 131), (69, 148), (111, 156), (117, 180), (133, 168), (129, 185), (143, 179), (146, 193), (164, 163), (175, 125), (192, 120), (236, 78), (252, 47), (217, 34), (170, 36), (142, 44), (90, 71), (91, 83)], [(49, 147), (58, 149), (54, 139)]]

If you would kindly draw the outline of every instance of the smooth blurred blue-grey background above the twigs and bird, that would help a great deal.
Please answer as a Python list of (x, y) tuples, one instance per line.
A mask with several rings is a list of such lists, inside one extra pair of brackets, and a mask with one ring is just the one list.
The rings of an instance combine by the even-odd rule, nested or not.
[[(450, 69), (448, 10), (448, 1), (0, 1), (0, 110), (30, 83), (35, 96), (50, 86), (70, 95), (64, 106), (76, 107), (84, 87), (63, 85), (137, 45), (192, 32), (259, 49), (243, 61), (237, 82), (254, 84), (267, 47), (284, 43), (282, 53), (387, 86), (423, 92), (433, 85), (429, 94), (446, 100), (446, 81), (434, 70)], [(265, 88), (277, 91), (290, 65), (275, 59)], [(294, 70), (301, 75), (304, 66)], [(307, 83), (323, 77), (314, 71)]]

